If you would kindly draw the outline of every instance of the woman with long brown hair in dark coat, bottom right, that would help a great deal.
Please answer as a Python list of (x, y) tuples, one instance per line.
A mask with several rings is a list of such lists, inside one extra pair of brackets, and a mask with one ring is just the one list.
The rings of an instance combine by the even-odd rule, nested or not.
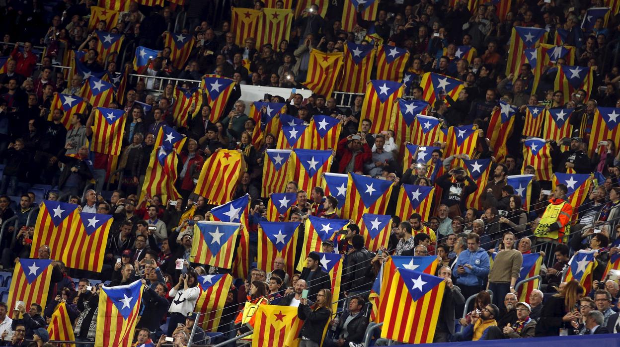
[(579, 317), (577, 304), (585, 289), (573, 279), (544, 303), (541, 317), (536, 325), (536, 336), (557, 336), (560, 329), (570, 328), (573, 320)]

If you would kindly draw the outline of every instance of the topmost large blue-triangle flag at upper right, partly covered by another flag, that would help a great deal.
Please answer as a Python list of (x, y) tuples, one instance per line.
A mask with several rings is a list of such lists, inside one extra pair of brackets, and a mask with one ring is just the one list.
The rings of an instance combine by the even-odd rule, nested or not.
[(513, 27), (510, 35), (510, 47), (508, 48), (508, 63), (506, 75), (518, 76), (521, 68), (521, 58), (527, 48), (536, 48), (547, 40), (545, 29), (534, 27)]

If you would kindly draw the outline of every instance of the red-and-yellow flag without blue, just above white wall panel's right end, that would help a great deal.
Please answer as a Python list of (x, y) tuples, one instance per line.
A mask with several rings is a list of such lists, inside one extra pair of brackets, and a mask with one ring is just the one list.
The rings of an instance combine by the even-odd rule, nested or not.
[(322, 96), (332, 95), (336, 79), (342, 69), (343, 53), (323, 53), (316, 48), (310, 50), (308, 74), (304, 86), (314, 94)]

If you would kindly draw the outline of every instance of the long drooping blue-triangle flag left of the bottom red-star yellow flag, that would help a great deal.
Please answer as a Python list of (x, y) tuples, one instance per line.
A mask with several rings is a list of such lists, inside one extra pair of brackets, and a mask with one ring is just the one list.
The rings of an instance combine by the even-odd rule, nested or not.
[(198, 276), (200, 296), (194, 310), (200, 313), (197, 324), (206, 332), (215, 333), (218, 330), (231, 285), (230, 274)]

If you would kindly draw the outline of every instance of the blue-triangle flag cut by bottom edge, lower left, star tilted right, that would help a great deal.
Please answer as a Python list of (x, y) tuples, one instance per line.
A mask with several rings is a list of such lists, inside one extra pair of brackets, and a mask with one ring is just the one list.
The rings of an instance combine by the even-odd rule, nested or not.
[(143, 290), (139, 280), (125, 286), (101, 287), (95, 347), (131, 346)]

